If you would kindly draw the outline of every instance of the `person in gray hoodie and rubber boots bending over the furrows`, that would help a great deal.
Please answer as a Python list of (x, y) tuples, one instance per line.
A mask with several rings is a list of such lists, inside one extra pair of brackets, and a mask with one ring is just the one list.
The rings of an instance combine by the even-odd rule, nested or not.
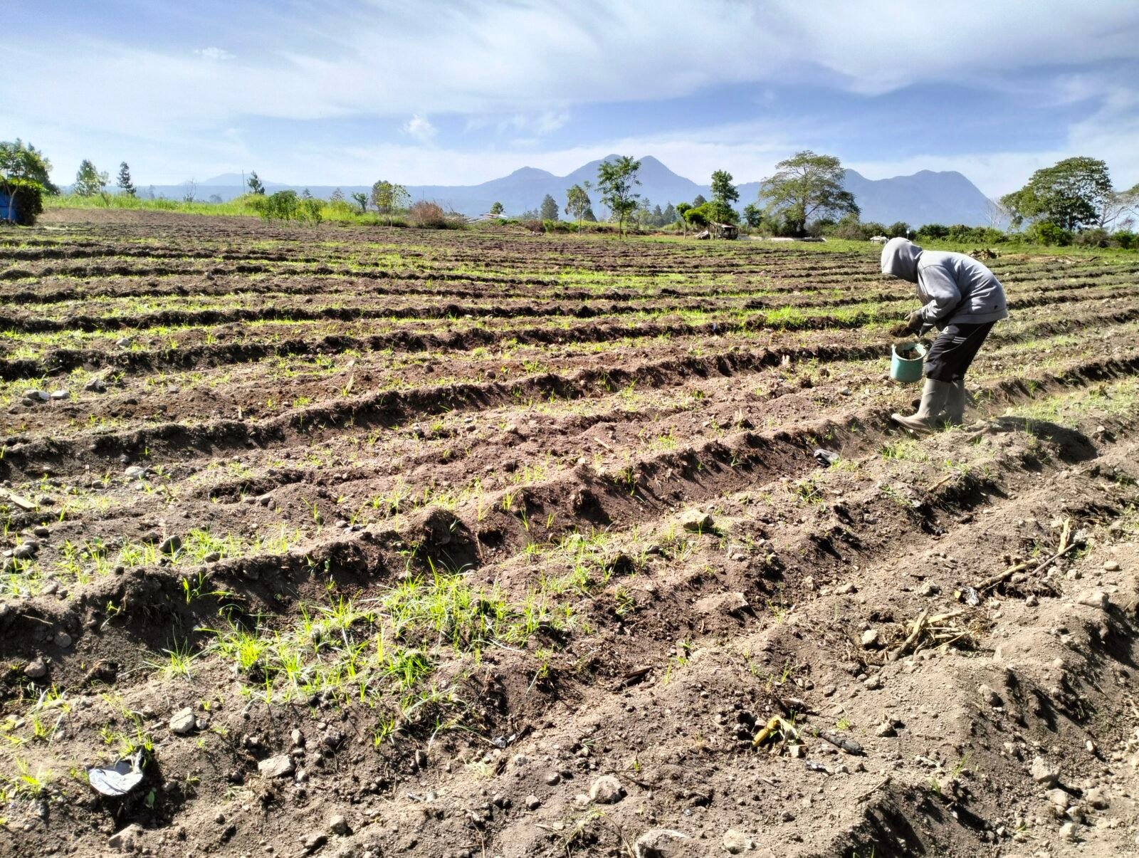
[(917, 414), (895, 414), (894, 422), (917, 433), (932, 432), (940, 418), (962, 423), (965, 373), (992, 326), (1008, 316), (1000, 280), (972, 256), (923, 251), (906, 238), (891, 238), (882, 248), (882, 272), (918, 286), (924, 307), (909, 314), (901, 333), (941, 332), (926, 353)]

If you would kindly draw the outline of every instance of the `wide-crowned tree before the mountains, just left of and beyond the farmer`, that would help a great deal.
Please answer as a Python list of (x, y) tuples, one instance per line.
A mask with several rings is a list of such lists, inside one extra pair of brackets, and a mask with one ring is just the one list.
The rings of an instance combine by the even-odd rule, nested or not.
[(859, 213), (843, 179), (838, 158), (808, 149), (776, 164), (775, 175), (760, 182), (760, 199), (767, 199), (769, 214), (782, 218), (792, 234), (801, 236), (813, 218)]

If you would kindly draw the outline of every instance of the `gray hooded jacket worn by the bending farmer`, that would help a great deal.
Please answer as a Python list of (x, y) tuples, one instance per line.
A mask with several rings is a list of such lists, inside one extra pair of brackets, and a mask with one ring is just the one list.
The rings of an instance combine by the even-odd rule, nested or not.
[(906, 238), (882, 248), (882, 272), (918, 285), (929, 325), (981, 325), (1008, 317), (1005, 289), (985, 265), (964, 253), (923, 251)]

